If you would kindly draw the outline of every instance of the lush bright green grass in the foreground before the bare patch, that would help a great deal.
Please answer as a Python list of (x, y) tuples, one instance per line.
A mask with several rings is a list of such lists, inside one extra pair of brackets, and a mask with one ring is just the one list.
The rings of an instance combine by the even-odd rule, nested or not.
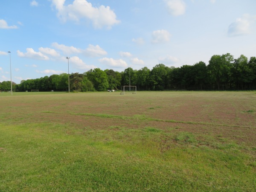
[(196, 135), (148, 127), (0, 127), (1, 191), (255, 189), (253, 157), (229, 141), (203, 136), (215, 146), (198, 146)]

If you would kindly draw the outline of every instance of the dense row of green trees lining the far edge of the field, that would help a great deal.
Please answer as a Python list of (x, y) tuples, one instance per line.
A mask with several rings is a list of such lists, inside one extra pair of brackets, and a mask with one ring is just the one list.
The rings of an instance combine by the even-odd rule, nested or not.
[[(157, 64), (152, 70), (143, 67), (123, 72), (91, 69), (83, 74), (70, 74), (70, 91), (119, 90), (121, 85), (136, 85), (137, 90), (252, 90), (256, 89), (256, 57), (250, 60), (230, 53), (213, 55), (209, 64), (199, 61), (193, 65), (167, 67)], [(10, 90), (10, 81), (0, 83), (0, 90)], [(67, 91), (68, 74), (12, 82), (13, 91)]]

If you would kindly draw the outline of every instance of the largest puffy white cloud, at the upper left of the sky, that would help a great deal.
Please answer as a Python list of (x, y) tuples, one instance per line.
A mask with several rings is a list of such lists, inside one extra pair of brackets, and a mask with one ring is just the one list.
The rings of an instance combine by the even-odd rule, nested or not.
[(63, 21), (87, 19), (93, 23), (94, 28), (101, 29), (106, 26), (108, 29), (120, 23), (116, 20), (116, 14), (109, 6), (93, 7), (87, 0), (74, 0), (73, 4), (64, 6), (65, 0), (52, 0), (52, 6), (58, 11), (57, 16)]

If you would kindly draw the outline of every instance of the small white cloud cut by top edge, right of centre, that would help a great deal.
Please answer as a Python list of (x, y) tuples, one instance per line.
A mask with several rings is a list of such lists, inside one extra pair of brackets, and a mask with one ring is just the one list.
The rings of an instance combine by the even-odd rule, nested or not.
[(183, 0), (164, 0), (168, 12), (173, 16), (183, 15), (186, 12), (186, 3)]

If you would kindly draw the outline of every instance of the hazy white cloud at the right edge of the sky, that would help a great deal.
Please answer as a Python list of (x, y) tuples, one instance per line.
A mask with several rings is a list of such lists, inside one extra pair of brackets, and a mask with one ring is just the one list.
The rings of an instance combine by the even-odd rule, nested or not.
[(247, 35), (251, 33), (250, 26), (256, 20), (256, 16), (244, 14), (241, 18), (237, 18), (235, 22), (228, 27), (229, 36)]

